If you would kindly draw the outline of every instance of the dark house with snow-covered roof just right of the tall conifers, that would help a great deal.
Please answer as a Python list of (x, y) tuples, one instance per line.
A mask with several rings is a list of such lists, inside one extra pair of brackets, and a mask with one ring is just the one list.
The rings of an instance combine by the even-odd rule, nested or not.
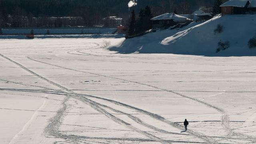
[(174, 13), (165, 13), (150, 19), (153, 22), (153, 28), (168, 28), (179, 23), (192, 21), (184, 16), (179, 16)]

